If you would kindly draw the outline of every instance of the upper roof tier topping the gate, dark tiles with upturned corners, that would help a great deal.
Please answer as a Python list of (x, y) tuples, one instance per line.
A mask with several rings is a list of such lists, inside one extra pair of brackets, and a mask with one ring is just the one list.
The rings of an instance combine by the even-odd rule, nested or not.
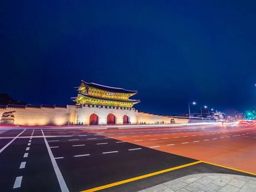
[(124, 89), (122, 87), (109, 87), (109, 86), (105, 86), (102, 84), (96, 84), (93, 82), (88, 83), (83, 80), (81, 80), (81, 85), (79, 87), (74, 87), (74, 89), (80, 91), (80, 90), (84, 89), (85, 87), (91, 87), (94, 89), (104, 90), (104, 91), (108, 91), (108, 92), (112, 92), (112, 93), (127, 93), (127, 94), (131, 94), (131, 95), (134, 95), (138, 92), (137, 90), (128, 90), (128, 89)]

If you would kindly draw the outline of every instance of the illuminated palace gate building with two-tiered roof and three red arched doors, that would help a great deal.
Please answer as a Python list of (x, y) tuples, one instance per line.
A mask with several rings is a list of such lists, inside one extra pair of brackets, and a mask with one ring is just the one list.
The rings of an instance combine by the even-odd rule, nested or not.
[(114, 125), (136, 124), (137, 113), (133, 108), (140, 100), (129, 99), (138, 93), (137, 90), (127, 90), (109, 87), (93, 82), (81, 81), (77, 97), (71, 99), (76, 102), (76, 123), (85, 125)]

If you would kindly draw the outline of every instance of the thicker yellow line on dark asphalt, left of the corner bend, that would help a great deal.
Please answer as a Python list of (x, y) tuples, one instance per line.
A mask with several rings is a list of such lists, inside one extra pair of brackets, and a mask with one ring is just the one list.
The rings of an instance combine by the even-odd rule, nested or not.
[(150, 173), (150, 174), (147, 174), (147, 175), (134, 177), (134, 178), (131, 178), (131, 179), (118, 181), (116, 183), (111, 183), (111, 184), (108, 184), (108, 185), (99, 186), (99, 187), (96, 187), (96, 188), (93, 188), (93, 189), (87, 189), (87, 190), (84, 190), (84, 191), (81, 191), (81, 192), (98, 191), (98, 190), (106, 189), (106, 188), (113, 187), (113, 186), (116, 186), (116, 185), (121, 185), (123, 183), (128, 183), (128, 182), (131, 182), (131, 181), (134, 181), (134, 180), (139, 180), (139, 179), (143, 179), (143, 178), (146, 178), (146, 177), (151, 177), (151, 176), (158, 175), (158, 174), (161, 174), (161, 173), (169, 172), (169, 171), (172, 171), (172, 170), (175, 170), (175, 169), (180, 169), (180, 168), (183, 168), (183, 167), (192, 166), (192, 165), (195, 165), (195, 164), (198, 164), (198, 163), (202, 163), (202, 161), (196, 161), (194, 163), (189, 163), (189, 164), (185, 164), (185, 165), (182, 165), (182, 166), (177, 166), (177, 167), (173, 167), (173, 168), (170, 168), (170, 169), (164, 169), (164, 170), (159, 171), (159, 172), (154, 172), (154, 173)]

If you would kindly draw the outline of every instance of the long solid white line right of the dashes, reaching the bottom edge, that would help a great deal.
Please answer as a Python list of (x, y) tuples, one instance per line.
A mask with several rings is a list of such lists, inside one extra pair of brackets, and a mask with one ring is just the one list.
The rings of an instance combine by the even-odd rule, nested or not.
[[(44, 131), (43, 131), (42, 129), (41, 129), (41, 131), (42, 131), (42, 134), (43, 134), (43, 136), (44, 136)], [(47, 147), (49, 156), (50, 156), (50, 158), (51, 158), (52, 166), (53, 166), (53, 169), (54, 169), (55, 174), (56, 174), (56, 176), (57, 176), (58, 183), (59, 183), (59, 185), (60, 185), (60, 187), (61, 187), (61, 192), (69, 192), (69, 190), (68, 190), (68, 188), (67, 188), (67, 185), (66, 185), (66, 183), (65, 183), (65, 180), (64, 180), (63, 176), (61, 175), (61, 171), (60, 171), (60, 169), (58, 168), (58, 164), (57, 164), (57, 162), (56, 162), (56, 160), (55, 160), (55, 158), (54, 158), (54, 156), (53, 156), (53, 154), (52, 154), (52, 150), (51, 150), (51, 148), (50, 148), (50, 146), (49, 146), (49, 144), (48, 144), (46, 138), (45, 138), (45, 137), (43, 137), (43, 138), (44, 138), (44, 143), (45, 143), (45, 145), (46, 145), (46, 147)]]

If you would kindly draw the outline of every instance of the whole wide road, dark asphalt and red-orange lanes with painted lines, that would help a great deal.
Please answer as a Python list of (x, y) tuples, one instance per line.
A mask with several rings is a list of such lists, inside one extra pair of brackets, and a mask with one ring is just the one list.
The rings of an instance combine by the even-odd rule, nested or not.
[(248, 125), (0, 128), (0, 186), (136, 192), (195, 173), (250, 175), (255, 145), (256, 127)]

